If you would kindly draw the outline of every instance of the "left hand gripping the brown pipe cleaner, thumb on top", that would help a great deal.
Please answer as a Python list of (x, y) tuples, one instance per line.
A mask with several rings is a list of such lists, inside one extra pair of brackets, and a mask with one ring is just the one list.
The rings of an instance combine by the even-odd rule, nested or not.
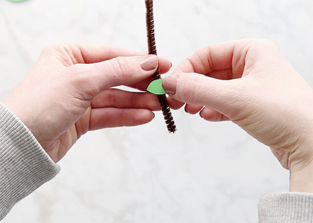
[(64, 44), (45, 48), (4, 104), (29, 128), (54, 162), (88, 130), (150, 122), (156, 96), (109, 89), (144, 88), (171, 62), (110, 46)]

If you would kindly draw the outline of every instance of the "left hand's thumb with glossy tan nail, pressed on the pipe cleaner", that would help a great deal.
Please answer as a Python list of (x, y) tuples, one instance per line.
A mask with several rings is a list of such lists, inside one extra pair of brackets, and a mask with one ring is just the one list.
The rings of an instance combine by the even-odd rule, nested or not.
[[(156, 72), (156, 55), (116, 57), (111, 60), (74, 64), (69, 67), (79, 88), (96, 95), (118, 85), (130, 85), (149, 78)], [(75, 83), (74, 83), (75, 84)]]

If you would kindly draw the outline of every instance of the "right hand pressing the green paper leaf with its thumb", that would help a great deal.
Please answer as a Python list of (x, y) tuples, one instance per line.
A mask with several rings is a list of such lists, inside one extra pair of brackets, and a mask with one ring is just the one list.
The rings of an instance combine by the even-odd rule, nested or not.
[[(291, 171), (291, 191), (313, 192), (313, 89), (271, 41), (209, 45), (182, 61), (163, 88), (208, 121), (231, 120)], [(205, 106), (202, 108), (202, 106)]]

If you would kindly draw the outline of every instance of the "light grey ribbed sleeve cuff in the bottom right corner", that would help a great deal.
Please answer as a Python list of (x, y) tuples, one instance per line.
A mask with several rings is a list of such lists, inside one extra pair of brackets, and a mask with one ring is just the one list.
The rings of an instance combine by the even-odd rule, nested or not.
[(313, 223), (313, 194), (290, 192), (262, 196), (259, 223)]

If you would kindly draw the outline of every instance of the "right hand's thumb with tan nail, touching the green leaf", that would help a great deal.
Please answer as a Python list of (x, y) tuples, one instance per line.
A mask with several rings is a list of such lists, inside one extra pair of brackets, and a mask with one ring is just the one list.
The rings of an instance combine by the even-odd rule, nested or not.
[(177, 101), (208, 106), (222, 114), (239, 109), (244, 101), (241, 79), (219, 80), (197, 73), (180, 73), (165, 78), (162, 86)]

